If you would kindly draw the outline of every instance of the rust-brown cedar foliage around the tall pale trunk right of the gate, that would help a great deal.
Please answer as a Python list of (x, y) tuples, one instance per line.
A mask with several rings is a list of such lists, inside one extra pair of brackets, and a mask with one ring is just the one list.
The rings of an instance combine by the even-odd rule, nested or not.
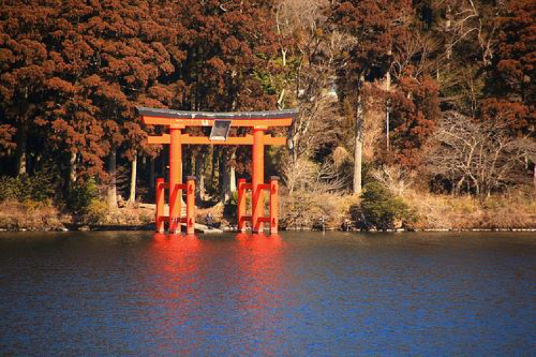
[[(345, 1), (334, 6), (332, 16), (334, 24), (355, 39), (340, 71), (343, 99), (349, 98), (365, 115), (366, 104), (376, 111), (378, 102), (387, 104), (394, 152), (386, 152), (383, 159), (416, 168), (434, 130), (439, 101), (434, 80), (426, 68), (419, 68), (425, 52), (412, 49), (422, 26), (412, 2)], [(393, 88), (386, 89), (383, 82), (391, 75)]]

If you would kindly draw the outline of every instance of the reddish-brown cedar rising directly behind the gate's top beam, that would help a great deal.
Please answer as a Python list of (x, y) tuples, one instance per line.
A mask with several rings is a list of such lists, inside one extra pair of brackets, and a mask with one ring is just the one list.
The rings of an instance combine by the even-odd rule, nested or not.
[[(275, 95), (261, 85), (257, 73), (277, 55), (275, 1), (185, 1), (177, 14), (187, 29), (185, 61), (178, 67), (184, 89), (179, 108), (192, 111), (258, 111), (275, 108)], [(234, 130), (233, 130), (234, 131)], [(233, 132), (232, 135), (235, 135)], [(222, 200), (233, 186), (236, 147), (222, 150)], [(248, 158), (247, 148), (239, 156)], [(248, 152), (244, 152), (247, 150)]]

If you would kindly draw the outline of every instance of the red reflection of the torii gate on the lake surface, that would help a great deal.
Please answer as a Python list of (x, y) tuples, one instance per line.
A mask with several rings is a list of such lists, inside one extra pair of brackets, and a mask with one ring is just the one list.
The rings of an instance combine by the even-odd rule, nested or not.
[[(176, 326), (196, 326), (193, 328), (199, 329), (197, 341), (209, 338), (205, 336), (205, 328), (211, 330), (211, 327), (200, 327), (208, 321), (199, 322), (198, 314), (210, 309), (208, 305), (214, 303), (217, 295), (222, 316), (229, 314), (232, 322), (227, 323), (235, 324), (228, 327), (253, 331), (257, 336), (255, 342), (242, 341), (245, 350), (275, 354), (280, 347), (275, 330), (282, 319), (279, 312), (283, 304), (282, 246), (279, 235), (238, 233), (235, 240), (205, 240), (155, 234), (150, 249), (155, 284), (153, 299), (170, 316), (161, 320), (159, 329), (173, 340), (177, 338), (172, 332)], [(181, 340), (180, 345), (179, 354), (196, 350), (194, 341)]]

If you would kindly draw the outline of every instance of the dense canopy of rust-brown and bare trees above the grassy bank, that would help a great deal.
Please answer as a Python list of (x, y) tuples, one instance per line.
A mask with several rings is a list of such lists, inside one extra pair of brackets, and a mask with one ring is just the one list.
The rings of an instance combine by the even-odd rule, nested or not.
[[(2, 0), (1, 174), (106, 182), (116, 152), (164, 174), (139, 105), (299, 107), (290, 154), (268, 163), (291, 192), (356, 191), (380, 165), (426, 171), (444, 113), (533, 141), (535, 17), (531, 0)], [(185, 174), (228, 190), (247, 174), (247, 150), (185, 152)]]

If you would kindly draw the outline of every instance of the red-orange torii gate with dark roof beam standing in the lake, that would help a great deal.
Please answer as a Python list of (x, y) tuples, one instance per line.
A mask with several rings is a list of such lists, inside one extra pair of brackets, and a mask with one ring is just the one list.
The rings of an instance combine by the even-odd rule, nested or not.
[[(269, 184), (264, 183), (264, 146), (286, 145), (286, 137), (272, 137), (264, 132), (273, 126), (291, 126), (298, 111), (261, 111), (244, 113), (208, 113), (192, 111), (172, 111), (169, 109), (138, 107), (144, 124), (161, 125), (169, 128), (169, 134), (159, 137), (148, 137), (148, 143), (170, 144), (170, 179), (156, 181), (156, 230), (163, 233), (165, 220), (169, 220), (170, 233), (180, 232), (180, 222), (186, 223), (186, 233), (194, 233), (195, 225), (195, 177), (188, 176), (187, 183), (182, 183), (183, 162), (182, 146), (190, 145), (252, 145), (253, 146), (253, 176), (251, 183), (245, 179), (238, 181), (238, 229), (245, 231), (246, 221), (251, 221), (253, 232), (263, 230), (264, 222), (270, 224), (270, 233), (277, 233), (279, 178), (272, 176)], [(182, 133), (187, 126), (220, 126), (223, 134), (218, 137), (191, 137)], [(253, 135), (245, 137), (227, 137), (229, 128), (250, 127)], [(170, 189), (170, 215), (164, 216), (164, 189)], [(182, 190), (186, 190), (186, 217), (180, 218), (180, 201)], [(246, 189), (251, 189), (251, 216), (246, 216)], [(270, 190), (270, 215), (264, 216), (263, 190)]]

